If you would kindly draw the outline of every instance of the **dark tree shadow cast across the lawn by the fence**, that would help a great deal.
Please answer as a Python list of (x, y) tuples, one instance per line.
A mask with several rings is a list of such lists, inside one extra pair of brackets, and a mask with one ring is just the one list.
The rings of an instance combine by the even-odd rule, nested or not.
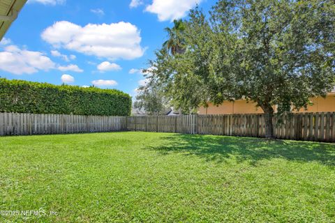
[(169, 153), (198, 155), (207, 161), (225, 162), (234, 156), (237, 162), (284, 158), (300, 162), (320, 162), (335, 167), (335, 145), (303, 141), (267, 140), (246, 137), (216, 137), (207, 135), (177, 134), (162, 137), (164, 146), (147, 149)]

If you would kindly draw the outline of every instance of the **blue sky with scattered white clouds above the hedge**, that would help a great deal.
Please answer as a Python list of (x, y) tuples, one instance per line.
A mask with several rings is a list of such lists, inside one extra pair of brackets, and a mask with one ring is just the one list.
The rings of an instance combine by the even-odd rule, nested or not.
[(196, 3), (214, 0), (29, 0), (0, 43), (0, 76), (135, 95), (167, 36)]

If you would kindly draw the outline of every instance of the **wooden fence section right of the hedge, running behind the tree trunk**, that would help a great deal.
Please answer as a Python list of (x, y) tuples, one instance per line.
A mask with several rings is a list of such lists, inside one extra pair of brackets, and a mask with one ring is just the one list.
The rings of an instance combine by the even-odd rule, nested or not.
[[(274, 117), (277, 139), (335, 142), (335, 112)], [(265, 137), (263, 114), (131, 116), (128, 130)]]

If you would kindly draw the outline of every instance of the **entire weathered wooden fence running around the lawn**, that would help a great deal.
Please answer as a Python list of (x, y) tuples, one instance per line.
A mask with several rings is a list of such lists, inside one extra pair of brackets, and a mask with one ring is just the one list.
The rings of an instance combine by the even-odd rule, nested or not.
[[(0, 135), (125, 130), (265, 137), (265, 121), (262, 114), (124, 117), (0, 113)], [(288, 114), (282, 123), (275, 117), (274, 134), (278, 139), (335, 142), (335, 112)]]

